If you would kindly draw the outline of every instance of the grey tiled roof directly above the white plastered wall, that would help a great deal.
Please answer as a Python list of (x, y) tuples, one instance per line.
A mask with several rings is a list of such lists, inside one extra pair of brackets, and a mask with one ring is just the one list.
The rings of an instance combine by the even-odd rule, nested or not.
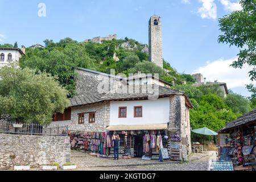
[[(129, 85), (129, 86), (131, 86), (131, 85)], [(163, 86), (158, 86), (158, 87), (159, 87), (159, 89), (158, 89), (159, 96), (170, 96), (172, 94), (184, 95), (184, 92), (181, 92), (180, 90), (166, 88)], [(154, 85), (152, 86), (152, 89), (154, 91)], [(127, 86), (127, 90), (129, 90), (128, 86)], [(137, 92), (135, 92), (135, 90)], [(142, 90), (146, 90), (146, 92), (143, 92)], [(122, 99), (126, 100), (126, 99), (133, 99), (133, 98), (148, 99), (148, 96), (154, 96), (154, 94), (147, 91), (146, 85), (134, 85), (133, 92), (130, 92), (130, 93), (122, 93), (121, 89), (119, 89), (116, 92), (110, 91), (105, 94), (94, 94), (94, 95), (89, 95), (89, 96), (73, 97), (71, 99), (69, 106), (70, 107), (71, 106), (80, 106), (80, 105), (93, 104), (93, 103), (97, 103), (97, 102), (101, 102), (101, 101), (110, 101), (110, 100), (122, 100)], [(185, 96), (185, 97), (187, 98), (187, 96)], [(187, 98), (187, 100), (188, 100), (188, 98)]]

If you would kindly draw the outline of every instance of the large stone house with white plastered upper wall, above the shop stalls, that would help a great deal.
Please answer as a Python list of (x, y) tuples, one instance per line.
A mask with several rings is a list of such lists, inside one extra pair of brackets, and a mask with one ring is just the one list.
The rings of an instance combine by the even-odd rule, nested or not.
[[(184, 92), (157, 84), (129, 85), (121, 77), (84, 68), (77, 68), (76, 72), (77, 96), (70, 100), (64, 114), (55, 115), (51, 126), (68, 125), (71, 131), (100, 133), (159, 131), (170, 139), (179, 134), (180, 140), (168, 140), (168, 146), (182, 147), (187, 158), (191, 152), (189, 109), (192, 104)], [(115, 84), (109, 84), (111, 80)], [(98, 93), (102, 85), (110, 88), (117, 85), (119, 89)]]

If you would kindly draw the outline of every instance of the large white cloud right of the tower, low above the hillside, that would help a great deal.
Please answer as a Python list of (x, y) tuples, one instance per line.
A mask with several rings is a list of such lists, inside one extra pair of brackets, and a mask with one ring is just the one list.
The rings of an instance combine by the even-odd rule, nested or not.
[(237, 88), (239, 86), (245, 87), (250, 84), (248, 72), (251, 70), (249, 65), (244, 65), (242, 69), (230, 67), (236, 58), (233, 59), (218, 59), (210, 61), (206, 66), (195, 69), (193, 73), (201, 73), (207, 78), (207, 81), (218, 80), (219, 82), (226, 82), (228, 88)]

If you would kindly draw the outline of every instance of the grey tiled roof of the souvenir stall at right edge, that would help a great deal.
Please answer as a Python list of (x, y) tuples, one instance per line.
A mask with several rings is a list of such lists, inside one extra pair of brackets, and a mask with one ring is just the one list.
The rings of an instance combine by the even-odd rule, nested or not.
[(249, 124), (255, 121), (256, 121), (256, 107), (253, 110), (251, 110), (249, 113), (246, 113), (245, 115), (242, 115), (240, 118), (226, 124), (226, 126), (220, 129), (219, 132), (231, 129), (233, 127)]

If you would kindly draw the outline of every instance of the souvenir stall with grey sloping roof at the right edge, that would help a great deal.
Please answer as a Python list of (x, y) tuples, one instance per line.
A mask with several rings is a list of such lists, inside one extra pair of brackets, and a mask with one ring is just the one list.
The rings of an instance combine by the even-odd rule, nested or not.
[(219, 160), (232, 162), (234, 170), (256, 169), (256, 110), (253, 111), (218, 132)]

